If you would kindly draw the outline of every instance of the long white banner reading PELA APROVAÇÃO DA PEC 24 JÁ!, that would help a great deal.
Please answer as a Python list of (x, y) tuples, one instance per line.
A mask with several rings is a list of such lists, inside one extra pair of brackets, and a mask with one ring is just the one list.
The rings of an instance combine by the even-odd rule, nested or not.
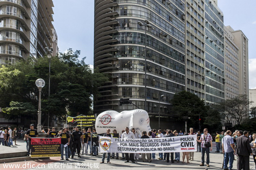
[(196, 152), (196, 135), (151, 139), (120, 139), (101, 137), (99, 152), (108, 153), (161, 153)]

